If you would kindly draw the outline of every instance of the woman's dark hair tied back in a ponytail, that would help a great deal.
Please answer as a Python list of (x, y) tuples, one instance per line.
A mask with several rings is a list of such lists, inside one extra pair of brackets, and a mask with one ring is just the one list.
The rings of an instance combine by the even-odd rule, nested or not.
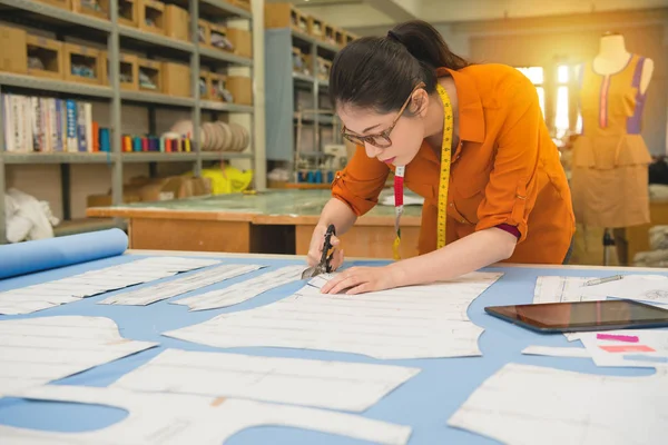
[(421, 81), (428, 93), (435, 91), (436, 68), (459, 70), (468, 65), (431, 24), (412, 20), (385, 37), (363, 37), (343, 48), (332, 63), (330, 99), (334, 106), (387, 113), (399, 110)]

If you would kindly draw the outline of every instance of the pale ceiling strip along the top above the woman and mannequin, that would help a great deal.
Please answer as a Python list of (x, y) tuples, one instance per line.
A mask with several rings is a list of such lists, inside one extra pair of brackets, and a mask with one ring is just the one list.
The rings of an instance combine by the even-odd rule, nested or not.
[(348, 29), (387, 26), (415, 18), (431, 23), (454, 23), (668, 8), (668, 0), (293, 0), (291, 3)]

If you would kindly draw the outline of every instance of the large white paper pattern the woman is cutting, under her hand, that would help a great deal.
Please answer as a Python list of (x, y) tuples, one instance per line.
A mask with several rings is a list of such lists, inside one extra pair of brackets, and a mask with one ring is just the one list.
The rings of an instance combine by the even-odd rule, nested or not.
[(321, 294), (330, 276), (317, 276), (271, 305), (163, 335), (215, 347), (321, 349), (381, 359), (479, 356), (483, 328), (469, 319), (466, 309), (502, 275), (472, 273), (446, 283), (355, 296)]

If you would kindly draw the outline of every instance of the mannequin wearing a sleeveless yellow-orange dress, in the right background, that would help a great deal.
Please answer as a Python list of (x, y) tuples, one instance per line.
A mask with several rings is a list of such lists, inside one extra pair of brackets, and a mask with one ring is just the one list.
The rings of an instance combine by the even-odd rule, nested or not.
[(603, 246), (616, 244), (625, 264), (626, 227), (650, 221), (647, 166), (651, 157), (640, 130), (654, 61), (629, 52), (623, 36), (606, 33), (598, 55), (579, 71), (583, 134), (573, 144), (576, 219), (586, 227), (605, 228)]

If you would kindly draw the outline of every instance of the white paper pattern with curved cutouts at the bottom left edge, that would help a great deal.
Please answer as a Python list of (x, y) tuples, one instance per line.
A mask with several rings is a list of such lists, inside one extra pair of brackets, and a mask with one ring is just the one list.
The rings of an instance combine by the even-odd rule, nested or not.
[(136, 393), (121, 388), (50, 385), (12, 394), (37, 400), (109, 405), (128, 416), (109, 427), (81, 433), (51, 433), (0, 425), (0, 437), (22, 445), (118, 444), (219, 445), (234, 434), (262, 425), (283, 425), (403, 445), (411, 427), (316, 408), (181, 394)]

